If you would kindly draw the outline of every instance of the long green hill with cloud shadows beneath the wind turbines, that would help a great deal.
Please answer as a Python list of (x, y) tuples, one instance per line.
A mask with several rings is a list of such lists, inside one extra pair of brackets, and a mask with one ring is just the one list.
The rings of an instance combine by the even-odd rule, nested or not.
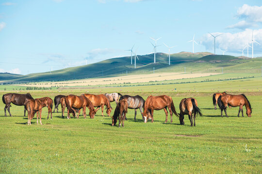
[(184, 72), (191, 73), (221, 73), (224, 71), (241, 73), (244, 69), (248, 73), (261, 71), (262, 58), (246, 59), (227, 55), (212, 55), (211, 53), (180, 52), (170, 55), (171, 65), (168, 65), (167, 54), (157, 53), (156, 63), (154, 55), (138, 56), (136, 69), (131, 65), (130, 57), (111, 58), (97, 63), (66, 68), (62, 70), (33, 73), (18, 77), (4, 79), (1, 83), (22, 83), (39, 81), (64, 81), (73, 79), (119, 76), (126, 73), (150, 73), (153, 69), (157, 72)]

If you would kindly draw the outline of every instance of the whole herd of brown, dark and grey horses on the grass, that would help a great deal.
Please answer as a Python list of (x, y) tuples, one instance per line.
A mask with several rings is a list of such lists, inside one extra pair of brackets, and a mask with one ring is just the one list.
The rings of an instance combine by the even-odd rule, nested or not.
[[(5, 104), (4, 107), (4, 114), (6, 115), (6, 110), (9, 112), (10, 116), (10, 107), (11, 103), (18, 105), (18, 106), (24, 106), (24, 116), (26, 111), (28, 112), (28, 125), (31, 125), (31, 119), (33, 119), (33, 116), (37, 115), (37, 124), (38, 124), (38, 117), (40, 118), (40, 124), (42, 124), (42, 108), (48, 107), (48, 117), (49, 114), (52, 119), (52, 106), (53, 106), (53, 100), (49, 97), (43, 97), (38, 99), (33, 99), (33, 97), (30, 95), (30, 93), (27, 94), (16, 94), (16, 93), (8, 93), (4, 94), (2, 96), (2, 101)], [(176, 112), (174, 102), (170, 96), (167, 95), (161, 95), (161, 96), (152, 96), (149, 95), (147, 97), (147, 100), (145, 101), (141, 96), (130, 96), (130, 95), (121, 95), (120, 93), (111, 93), (111, 94), (82, 94), (80, 96), (77, 95), (58, 95), (54, 98), (54, 105), (55, 108), (53, 112), (55, 112), (55, 109), (58, 113), (58, 106), (61, 104), (62, 108), (62, 117), (64, 117), (64, 111), (65, 108), (67, 108), (67, 119), (70, 118), (70, 113), (74, 117), (79, 118), (81, 109), (84, 118), (86, 118), (86, 107), (89, 110), (89, 116), (90, 118), (94, 118), (96, 115), (98, 109), (101, 108), (102, 116), (104, 116), (104, 106), (106, 107), (106, 114), (107, 116), (111, 115), (112, 112), (112, 106), (110, 102), (116, 103), (116, 108), (114, 115), (112, 117), (112, 126), (115, 126), (118, 119), (118, 126), (120, 127), (122, 124), (122, 127), (124, 127), (124, 122), (127, 120), (126, 114), (128, 112), (128, 109), (134, 109), (135, 115), (134, 120), (136, 120), (136, 114), (137, 109), (140, 110), (140, 113), (142, 115), (142, 119), (145, 123), (147, 123), (147, 120), (151, 120), (151, 122), (154, 121), (154, 110), (162, 110), (164, 109), (165, 112), (165, 123), (167, 122), (168, 118), (168, 111), (170, 114), (170, 122), (173, 122), (173, 113), (179, 117), (180, 124), (184, 125), (184, 115), (188, 115), (188, 118), (190, 120), (191, 126), (193, 126), (193, 119), (194, 119), (194, 126), (196, 126), (196, 116), (200, 115), (202, 116), (201, 110), (197, 106), (197, 100), (195, 98), (184, 98), (181, 100), (179, 108), (180, 113), (178, 114)], [(237, 107), (239, 106), (239, 112), (242, 111), (243, 114), (243, 106), (246, 106), (246, 115), (248, 117), (251, 117), (252, 108), (250, 105), (250, 102), (247, 100), (245, 94), (240, 95), (231, 95), (227, 94), (226, 92), (223, 93), (215, 93), (213, 94), (213, 105), (214, 109), (216, 110), (216, 105), (219, 106), (221, 110), (221, 116), (223, 117), (223, 111), (227, 115), (227, 106), (229, 107)], [(97, 109), (95, 109), (97, 107)]]

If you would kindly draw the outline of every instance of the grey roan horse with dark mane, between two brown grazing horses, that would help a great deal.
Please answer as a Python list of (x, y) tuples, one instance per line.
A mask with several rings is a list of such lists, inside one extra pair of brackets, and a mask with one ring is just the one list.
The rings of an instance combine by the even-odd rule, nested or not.
[(124, 95), (124, 96), (120, 97), (119, 101), (121, 101), (123, 99), (128, 102), (128, 108), (129, 109), (135, 110), (134, 120), (136, 120), (136, 111), (137, 111), (138, 108), (141, 112), (142, 119), (144, 119), (143, 114), (142, 114), (143, 113), (142, 109), (144, 108), (145, 100), (141, 96), (139, 96), (139, 95), (136, 95), (136, 96)]

